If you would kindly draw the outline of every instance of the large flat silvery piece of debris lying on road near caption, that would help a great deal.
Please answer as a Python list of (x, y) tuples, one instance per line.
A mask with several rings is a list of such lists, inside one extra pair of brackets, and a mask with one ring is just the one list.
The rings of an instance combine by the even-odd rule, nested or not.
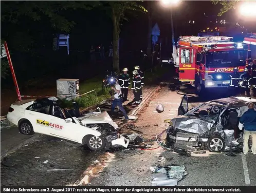
[(153, 171), (153, 186), (176, 186), (188, 174), (184, 165), (150, 167), (150, 170)]

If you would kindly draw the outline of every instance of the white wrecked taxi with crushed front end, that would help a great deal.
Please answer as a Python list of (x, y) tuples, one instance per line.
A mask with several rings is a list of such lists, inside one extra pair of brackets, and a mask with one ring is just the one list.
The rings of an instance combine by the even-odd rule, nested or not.
[(61, 108), (57, 98), (23, 100), (13, 103), (7, 119), (17, 125), (22, 134), (42, 133), (87, 145), (92, 150), (122, 145), (129, 140), (118, 132), (118, 125), (106, 111), (80, 115), (78, 105), (74, 109)]

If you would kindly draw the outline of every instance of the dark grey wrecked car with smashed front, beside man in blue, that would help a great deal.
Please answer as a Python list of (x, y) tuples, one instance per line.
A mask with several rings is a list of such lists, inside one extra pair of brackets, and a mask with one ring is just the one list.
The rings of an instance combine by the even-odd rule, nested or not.
[(256, 104), (255, 99), (229, 97), (188, 110), (188, 98), (184, 95), (178, 116), (167, 129), (167, 146), (185, 149), (192, 146), (212, 152), (242, 148), (243, 130), (238, 125), (249, 102)]

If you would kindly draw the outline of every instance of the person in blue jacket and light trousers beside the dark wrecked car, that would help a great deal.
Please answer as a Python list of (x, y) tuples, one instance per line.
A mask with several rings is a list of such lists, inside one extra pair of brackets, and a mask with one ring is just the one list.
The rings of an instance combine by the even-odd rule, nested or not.
[(243, 152), (246, 155), (249, 151), (248, 140), (251, 136), (252, 145), (251, 151), (254, 155), (256, 155), (256, 110), (254, 109), (254, 104), (248, 104), (248, 110), (242, 115), (240, 118), (240, 123), (244, 125), (244, 147)]

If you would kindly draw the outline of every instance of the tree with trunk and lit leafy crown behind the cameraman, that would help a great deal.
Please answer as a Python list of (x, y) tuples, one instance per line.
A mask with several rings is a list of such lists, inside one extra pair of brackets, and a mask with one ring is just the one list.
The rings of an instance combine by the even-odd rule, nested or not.
[[(147, 12), (147, 10), (140, 4), (139, 1), (102, 1), (103, 8), (107, 14), (111, 16), (113, 22), (113, 67), (116, 71), (119, 68), (119, 35), (121, 32), (120, 23), (123, 20), (128, 21), (126, 14), (135, 14), (135, 11)], [(141, 1), (140, 1), (141, 2)]]

